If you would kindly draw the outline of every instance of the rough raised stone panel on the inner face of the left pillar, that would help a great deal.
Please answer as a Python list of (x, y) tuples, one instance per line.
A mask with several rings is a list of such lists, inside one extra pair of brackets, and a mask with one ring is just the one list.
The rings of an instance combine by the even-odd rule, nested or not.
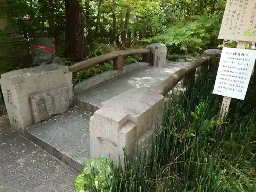
[(59, 87), (30, 96), (34, 122), (50, 118), (52, 115), (64, 113), (69, 109), (68, 87)]

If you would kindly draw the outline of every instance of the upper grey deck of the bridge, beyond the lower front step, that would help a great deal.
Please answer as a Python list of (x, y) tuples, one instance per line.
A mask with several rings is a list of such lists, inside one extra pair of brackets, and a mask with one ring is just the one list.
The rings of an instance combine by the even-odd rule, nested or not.
[[(184, 64), (183, 64), (184, 65)], [(162, 67), (145, 67), (132, 73), (101, 83), (97, 87), (77, 94), (76, 105), (82, 109), (95, 112), (100, 104), (133, 88), (157, 89), (170, 75), (179, 68), (166, 65)]]

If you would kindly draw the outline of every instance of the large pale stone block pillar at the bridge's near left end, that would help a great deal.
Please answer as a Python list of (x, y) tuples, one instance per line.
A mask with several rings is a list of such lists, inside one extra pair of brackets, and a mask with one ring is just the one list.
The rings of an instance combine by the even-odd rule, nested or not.
[(1, 88), (12, 129), (24, 130), (68, 110), (73, 104), (72, 72), (51, 64), (1, 75)]

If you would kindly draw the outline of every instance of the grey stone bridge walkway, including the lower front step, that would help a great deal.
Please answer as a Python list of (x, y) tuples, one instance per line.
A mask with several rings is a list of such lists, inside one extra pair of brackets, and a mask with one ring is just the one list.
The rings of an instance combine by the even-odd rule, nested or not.
[(89, 120), (100, 104), (132, 88), (158, 88), (166, 78), (185, 64), (167, 62), (164, 68), (143, 67), (81, 92), (75, 95), (76, 106), (68, 112), (29, 127), (28, 138), (81, 171), (84, 161), (90, 158)]

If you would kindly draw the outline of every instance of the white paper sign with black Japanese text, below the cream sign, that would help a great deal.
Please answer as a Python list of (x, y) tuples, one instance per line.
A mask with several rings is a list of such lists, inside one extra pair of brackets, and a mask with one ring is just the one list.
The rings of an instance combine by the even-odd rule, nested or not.
[(256, 50), (224, 47), (212, 93), (244, 100), (255, 60)]

